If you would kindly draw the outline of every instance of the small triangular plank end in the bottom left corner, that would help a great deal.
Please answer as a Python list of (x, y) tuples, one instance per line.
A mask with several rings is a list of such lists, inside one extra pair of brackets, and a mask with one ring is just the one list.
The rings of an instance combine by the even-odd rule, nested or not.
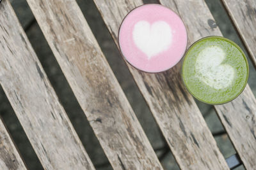
[(27, 169), (0, 118), (0, 169)]

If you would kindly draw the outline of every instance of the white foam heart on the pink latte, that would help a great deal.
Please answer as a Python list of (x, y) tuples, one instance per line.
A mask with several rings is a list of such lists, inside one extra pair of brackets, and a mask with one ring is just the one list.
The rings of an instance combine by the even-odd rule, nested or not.
[(150, 59), (154, 55), (168, 50), (172, 43), (172, 29), (164, 21), (150, 24), (141, 20), (134, 25), (132, 37), (135, 45)]

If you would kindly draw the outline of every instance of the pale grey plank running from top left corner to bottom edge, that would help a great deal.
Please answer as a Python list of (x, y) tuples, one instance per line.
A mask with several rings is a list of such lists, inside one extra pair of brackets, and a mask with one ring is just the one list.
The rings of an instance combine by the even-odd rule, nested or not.
[(0, 83), (42, 166), (94, 169), (8, 0), (0, 38)]

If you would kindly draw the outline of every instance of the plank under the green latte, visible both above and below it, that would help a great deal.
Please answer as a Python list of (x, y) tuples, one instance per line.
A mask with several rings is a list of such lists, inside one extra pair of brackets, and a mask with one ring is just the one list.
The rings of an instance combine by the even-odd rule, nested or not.
[[(161, 0), (161, 3), (172, 9), (177, 9), (187, 25), (190, 44), (204, 36), (222, 36), (203, 0)], [(250, 87), (247, 85), (241, 96), (234, 101), (214, 107), (244, 166), (247, 169), (255, 169), (256, 101)]]

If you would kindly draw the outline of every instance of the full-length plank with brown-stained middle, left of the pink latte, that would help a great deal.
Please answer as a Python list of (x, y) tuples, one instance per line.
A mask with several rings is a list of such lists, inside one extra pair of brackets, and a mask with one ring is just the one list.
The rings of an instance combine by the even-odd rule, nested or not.
[(27, 0), (115, 169), (162, 169), (75, 0)]

